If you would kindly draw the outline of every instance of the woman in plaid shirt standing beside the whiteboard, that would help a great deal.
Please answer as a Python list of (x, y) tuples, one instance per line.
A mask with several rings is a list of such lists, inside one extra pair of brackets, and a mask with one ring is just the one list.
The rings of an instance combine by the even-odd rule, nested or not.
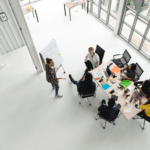
[(56, 72), (54, 68), (54, 61), (52, 59), (46, 58), (47, 64), (45, 65), (46, 68), (46, 79), (47, 82), (52, 84), (53, 89), (55, 88), (56, 97), (61, 98), (62, 95), (58, 95), (59, 85), (58, 80), (65, 79), (65, 78), (57, 78)]

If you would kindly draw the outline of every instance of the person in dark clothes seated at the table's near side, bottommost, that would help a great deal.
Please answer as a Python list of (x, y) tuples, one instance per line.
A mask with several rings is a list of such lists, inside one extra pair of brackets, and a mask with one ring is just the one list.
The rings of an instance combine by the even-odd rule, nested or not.
[(113, 98), (109, 98), (108, 100), (108, 106), (106, 105), (106, 101), (102, 100), (102, 105), (98, 108), (98, 115), (104, 117), (104, 119), (113, 121), (118, 116), (121, 105), (118, 104), (115, 106), (115, 100)]

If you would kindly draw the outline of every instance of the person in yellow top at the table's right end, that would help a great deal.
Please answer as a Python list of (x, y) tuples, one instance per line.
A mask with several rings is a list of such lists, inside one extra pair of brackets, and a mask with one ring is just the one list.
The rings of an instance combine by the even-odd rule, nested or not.
[(142, 111), (142, 112), (139, 113), (139, 115), (140, 115), (142, 118), (150, 117), (150, 104), (141, 105), (141, 100), (140, 100), (139, 105), (136, 104), (135, 107), (136, 107), (137, 109), (144, 109), (144, 111)]

